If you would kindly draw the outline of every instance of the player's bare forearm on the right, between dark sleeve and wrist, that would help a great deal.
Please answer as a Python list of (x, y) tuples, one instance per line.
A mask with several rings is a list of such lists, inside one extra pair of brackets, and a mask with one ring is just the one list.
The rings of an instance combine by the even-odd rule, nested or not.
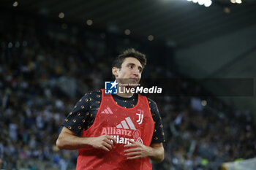
[(152, 147), (150, 146), (150, 152), (148, 152), (148, 158), (154, 162), (161, 162), (165, 158), (165, 150), (162, 146)]

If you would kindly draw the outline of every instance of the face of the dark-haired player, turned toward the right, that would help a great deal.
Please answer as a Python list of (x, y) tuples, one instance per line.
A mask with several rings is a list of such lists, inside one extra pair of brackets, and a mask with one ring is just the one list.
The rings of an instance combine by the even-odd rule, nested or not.
[(121, 64), (121, 69), (116, 67), (112, 68), (113, 74), (116, 76), (116, 80), (122, 83), (138, 84), (140, 82), (141, 73), (143, 67), (138, 59), (133, 57), (124, 58)]

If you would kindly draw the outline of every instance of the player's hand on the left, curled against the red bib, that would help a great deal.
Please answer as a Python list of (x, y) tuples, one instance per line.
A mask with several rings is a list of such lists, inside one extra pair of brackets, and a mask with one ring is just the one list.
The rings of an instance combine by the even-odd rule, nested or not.
[(116, 144), (116, 139), (109, 135), (102, 135), (91, 138), (91, 147), (100, 150), (110, 151), (113, 148), (113, 144)]

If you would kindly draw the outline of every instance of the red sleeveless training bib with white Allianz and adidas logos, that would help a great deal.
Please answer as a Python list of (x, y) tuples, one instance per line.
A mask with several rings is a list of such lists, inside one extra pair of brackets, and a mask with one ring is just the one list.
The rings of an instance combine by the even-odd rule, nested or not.
[(116, 139), (112, 150), (98, 150), (85, 147), (79, 150), (77, 170), (150, 170), (148, 158), (127, 160), (124, 155), (128, 139), (142, 142), (149, 146), (154, 132), (154, 120), (146, 96), (138, 95), (135, 107), (125, 109), (118, 106), (110, 94), (102, 90), (102, 104), (99, 107), (93, 125), (81, 134), (82, 137), (93, 137), (108, 134)]

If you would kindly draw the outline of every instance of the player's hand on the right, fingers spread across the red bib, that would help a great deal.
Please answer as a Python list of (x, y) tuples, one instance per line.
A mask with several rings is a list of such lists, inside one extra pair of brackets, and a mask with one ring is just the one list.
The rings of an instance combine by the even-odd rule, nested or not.
[(133, 147), (128, 150), (124, 150), (124, 155), (129, 156), (127, 159), (146, 158), (151, 154), (151, 147), (147, 147), (139, 142), (129, 140), (131, 144), (126, 144), (124, 147)]

